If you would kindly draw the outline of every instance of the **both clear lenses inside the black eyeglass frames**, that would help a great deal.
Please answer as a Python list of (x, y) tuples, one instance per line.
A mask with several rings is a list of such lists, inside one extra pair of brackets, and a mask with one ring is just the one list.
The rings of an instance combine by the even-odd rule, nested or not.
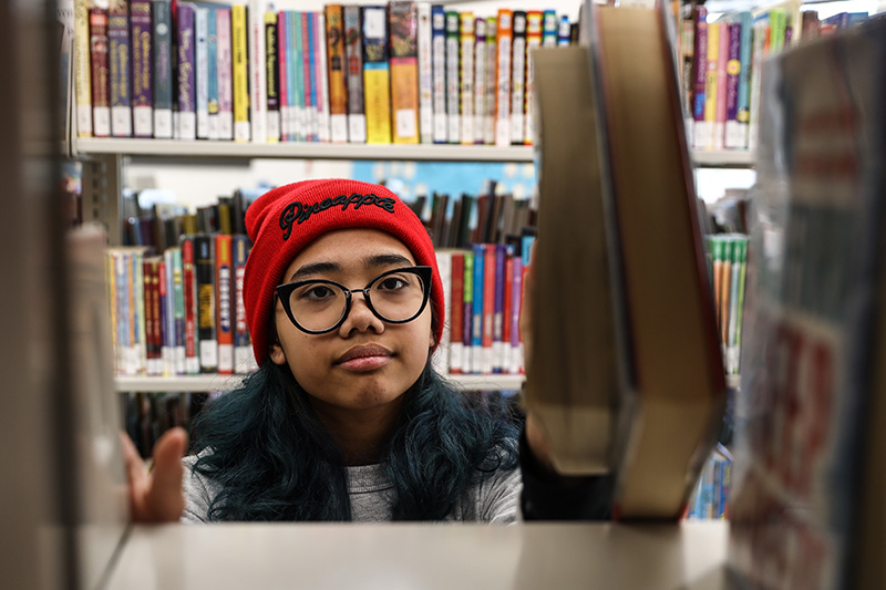
[[(422, 280), (412, 272), (384, 275), (369, 286), (371, 307), (381, 319), (400, 322), (413, 318), (424, 300)], [(334, 283), (309, 281), (289, 296), (289, 309), (305, 329), (328, 330), (344, 314), (348, 297)]]

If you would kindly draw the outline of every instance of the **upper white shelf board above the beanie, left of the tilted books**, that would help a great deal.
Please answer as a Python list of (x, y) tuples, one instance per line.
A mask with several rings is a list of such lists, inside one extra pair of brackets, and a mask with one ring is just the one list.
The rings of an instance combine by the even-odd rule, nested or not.
[(235, 142), (183, 142), (175, 139), (81, 138), (80, 155), (122, 154), (131, 156), (188, 156), (231, 158), (297, 159), (398, 159), (461, 162), (533, 162), (532, 146), (496, 147), (491, 145), (446, 144), (321, 144)]

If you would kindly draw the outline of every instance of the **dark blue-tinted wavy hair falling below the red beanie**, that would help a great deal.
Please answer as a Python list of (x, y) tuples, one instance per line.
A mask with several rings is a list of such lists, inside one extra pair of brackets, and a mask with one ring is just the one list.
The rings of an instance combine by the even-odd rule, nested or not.
[[(405, 393), (381, 467), (394, 520), (441, 520), (471, 485), (517, 466), (518, 421), (501, 396), (453, 389), (426, 364)], [(219, 484), (210, 520), (351, 520), (331, 434), (287, 366), (266, 362), (194, 426), (194, 469)]]

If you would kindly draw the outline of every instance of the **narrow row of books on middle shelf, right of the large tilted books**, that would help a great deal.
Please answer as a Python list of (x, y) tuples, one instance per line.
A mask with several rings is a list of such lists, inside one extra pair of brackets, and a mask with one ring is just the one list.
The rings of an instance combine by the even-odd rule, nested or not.
[(718, 234), (707, 237), (709, 272), (720, 345), (728, 375), (736, 375), (741, 359), (741, 324), (744, 311), (744, 278), (748, 269), (748, 236)]

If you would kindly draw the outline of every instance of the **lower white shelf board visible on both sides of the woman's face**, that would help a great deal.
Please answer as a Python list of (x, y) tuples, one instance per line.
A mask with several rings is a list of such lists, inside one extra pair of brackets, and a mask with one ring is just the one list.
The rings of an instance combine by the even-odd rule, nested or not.
[[(229, 391), (239, 385), (244, 375), (179, 375), (179, 376), (116, 376), (116, 391), (206, 392)], [(446, 380), (465, 390), (519, 390), (523, 375), (446, 375)]]

